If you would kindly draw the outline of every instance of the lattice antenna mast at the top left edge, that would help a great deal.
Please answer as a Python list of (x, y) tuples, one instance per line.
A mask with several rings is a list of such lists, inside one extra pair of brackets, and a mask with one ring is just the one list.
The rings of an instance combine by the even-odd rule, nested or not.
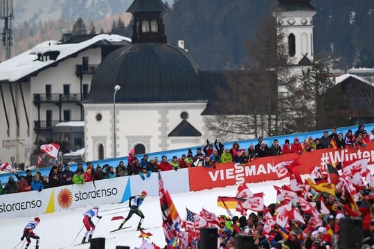
[(10, 47), (13, 46), (13, 0), (0, 0), (0, 19), (4, 19), (4, 30), (1, 40), (6, 47), (6, 59), (10, 59)]

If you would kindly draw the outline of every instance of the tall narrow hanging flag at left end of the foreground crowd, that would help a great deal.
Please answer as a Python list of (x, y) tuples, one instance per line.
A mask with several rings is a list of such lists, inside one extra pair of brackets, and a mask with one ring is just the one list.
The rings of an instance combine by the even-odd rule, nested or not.
[(175, 208), (174, 203), (170, 197), (168, 190), (165, 190), (163, 187), (163, 181), (161, 178), (161, 174), (159, 172), (159, 198), (160, 198), (160, 205), (161, 205), (161, 213), (162, 213), (162, 228), (163, 233), (165, 234), (166, 243), (170, 243), (170, 241), (175, 241), (178, 236), (180, 226), (181, 226), (181, 218), (177, 212), (177, 208)]

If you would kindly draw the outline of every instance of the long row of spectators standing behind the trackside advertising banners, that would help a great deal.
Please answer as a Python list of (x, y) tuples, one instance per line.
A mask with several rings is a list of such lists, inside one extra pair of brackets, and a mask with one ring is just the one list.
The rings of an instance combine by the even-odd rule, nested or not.
[(331, 133), (323, 131), (321, 138), (308, 138), (304, 141), (299, 141), (299, 138), (290, 140), (285, 139), (283, 145), (277, 139), (274, 139), (271, 145), (260, 136), (256, 145), (250, 144), (248, 148), (240, 148), (238, 142), (233, 142), (231, 148), (225, 147), (222, 142), (215, 140), (213, 143), (206, 140), (204, 147), (196, 149), (195, 153), (188, 149), (186, 154), (181, 157), (172, 156), (167, 158), (161, 156), (161, 160), (157, 156), (149, 158), (148, 154), (143, 155), (139, 159), (135, 155), (134, 149), (131, 149), (127, 162), (121, 160), (116, 167), (108, 164), (96, 165), (94, 167), (91, 162), (85, 163), (84, 169), (82, 163), (78, 163), (75, 172), (70, 170), (70, 165), (58, 164), (57, 161), (53, 163), (51, 171), (48, 176), (42, 176), (40, 172), (36, 172), (34, 176), (28, 169), (26, 176), (19, 176), (15, 172), (15, 181), (13, 176), (9, 176), (8, 183), (3, 187), (0, 184), (0, 194), (10, 194), (17, 192), (26, 192), (30, 190), (41, 191), (48, 187), (57, 187), (69, 184), (84, 184), (90, 181), (98, 181), (105, 178), (115, 178), (121, 176), (139, 175), (143, 180), (150, 177), (152, 172), (178, 170), (188, 167), (213, 167), (217, 163), (249, 163), (254, 158), (261, 158), (265, 156), (276, 156), (288, 153), (302, 154), (305, 151), (314, 151), (316, 149), (323, 149), (328, 147), (335, 147), (344, 149), (346, 146), (354, 149), (366, 146), (367, 142), (374, 140), (374, 129), (371, 133), (367, 133), (364, 125), (360, 124), (355, 133), (352, 130), (344, 135), (337, 133), (337, 129), (332, 127)]

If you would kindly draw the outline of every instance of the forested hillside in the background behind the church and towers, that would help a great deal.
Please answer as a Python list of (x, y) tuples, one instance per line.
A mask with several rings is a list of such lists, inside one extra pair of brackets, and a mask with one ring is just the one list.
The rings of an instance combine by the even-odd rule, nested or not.
[[(238, 69), (251, 64), (247, 44), (261, 26), (276, 0), (176, 0), (164, 15), (168, 43), (183, 39), (188, 51), (204, 70)], [(332, 68), (374, 67), (374, 1), (312, 0), (315, 55)], [(123, 10), (125, 12), (125, 10)], [(131, 36), (130, 15), (102, 21), (84, 19), (87, 30)], [(122, 25), (122, 24), (121, 24)], [(60, 39), (73, 28), (62, 20), (14, 27), (12, 56), (48, 39)], [(88, 31), (87, 31), (88, 32)], [(1, 45), (0, 60), (5, 51)]]

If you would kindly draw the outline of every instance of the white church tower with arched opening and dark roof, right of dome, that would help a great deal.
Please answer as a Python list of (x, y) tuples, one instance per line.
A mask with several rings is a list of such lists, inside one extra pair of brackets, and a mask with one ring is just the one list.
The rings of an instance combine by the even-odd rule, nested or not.
[(283, 34), (290, 66), (310, 66), (314, 59), (313, 16), (310, 0), (278, 0), (273, 11), (278, 32)]

